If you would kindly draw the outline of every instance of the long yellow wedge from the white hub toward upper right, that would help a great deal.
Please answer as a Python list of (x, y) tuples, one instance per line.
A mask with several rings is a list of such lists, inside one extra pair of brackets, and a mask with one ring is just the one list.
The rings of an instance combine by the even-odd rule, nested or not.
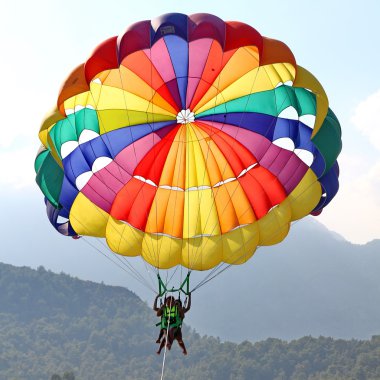
[[(260, 66), (238, 78), (217, 95), (215, 95), (215, 88), (211, 87), (197, 104), (194, 112), (198, 114), (245, 95), (272, 90), (279, 82), (293, 81), (294, 76), (295, 69), (289, 63)], [(214, 86), (216, 86), (215, 82)]]

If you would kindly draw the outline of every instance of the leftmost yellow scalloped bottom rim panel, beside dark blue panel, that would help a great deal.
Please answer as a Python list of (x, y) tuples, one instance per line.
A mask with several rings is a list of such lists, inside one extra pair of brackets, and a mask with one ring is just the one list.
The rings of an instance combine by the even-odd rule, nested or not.
[(109, 214), (78, 193), (70, 209), (70, 223), (78, 235), (105, 237)]

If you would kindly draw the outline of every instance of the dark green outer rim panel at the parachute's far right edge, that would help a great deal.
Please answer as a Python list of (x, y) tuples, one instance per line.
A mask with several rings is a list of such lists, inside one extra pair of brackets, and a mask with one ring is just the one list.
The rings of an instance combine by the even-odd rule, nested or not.
[(342, 150), (342, 131), (334, 112), (329, 109), (321, 129), (312, 139), (326, 161), (324, 173), (330, 170)]

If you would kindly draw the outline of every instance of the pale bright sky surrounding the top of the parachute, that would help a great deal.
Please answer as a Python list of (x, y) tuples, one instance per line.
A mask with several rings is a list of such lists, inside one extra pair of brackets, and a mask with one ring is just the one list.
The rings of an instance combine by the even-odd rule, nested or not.
[(297, 63), (319, 79), (341, 123), (343, 151), (340, 191), (318, 220), (353, 243), (380, 238), (380, 2), (25, 0), (2, 2), (0, 10), (3, 214), (33, 222), (25, 212), (28, 202), (33, 210), (39, 202), (38, 212), (44, 212), (34, 182), (37, 134), (74, 67), (134, 22), (167, 12), (207, 12), (284, 41)]

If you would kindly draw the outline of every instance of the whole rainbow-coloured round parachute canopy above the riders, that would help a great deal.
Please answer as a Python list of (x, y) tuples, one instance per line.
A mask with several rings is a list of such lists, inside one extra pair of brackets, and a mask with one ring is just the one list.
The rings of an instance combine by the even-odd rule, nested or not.
[(284, 43), (210, 14), (104, 41), (39, 138), (53, 226), (157, 268), (241, 264), (338, 190), (341, 130), (320, 83)]

